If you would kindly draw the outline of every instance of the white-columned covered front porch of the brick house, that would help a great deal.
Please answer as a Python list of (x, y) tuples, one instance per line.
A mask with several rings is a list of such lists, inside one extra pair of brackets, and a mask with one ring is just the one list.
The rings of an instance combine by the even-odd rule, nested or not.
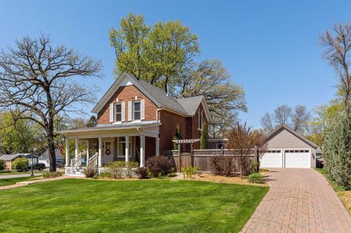
[[(67, 176), (82, 175), (86, 166), (96, 167), (100, 174), (106, 169), (104, 166), (113, 161), (134, 161), (143, 167), (148, 156), (160, 154), (158, 126), (154, 125), (108, 129), (97, 126), (63, 133), (66, 135)], [(70, 143), (74, 144), (71, 154)]]

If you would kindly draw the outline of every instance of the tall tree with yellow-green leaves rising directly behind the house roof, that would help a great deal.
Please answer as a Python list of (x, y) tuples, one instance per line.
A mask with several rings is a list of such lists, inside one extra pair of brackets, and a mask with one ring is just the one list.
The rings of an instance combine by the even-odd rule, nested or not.
[(110, 29), (116, 52), (116, 74), (124, 71), (168, 91), (173, 77), (193, 59), (199, 49), (197, 36), (180, 21), (146, 25), (141, 15), (122, 18), (120, 29)]

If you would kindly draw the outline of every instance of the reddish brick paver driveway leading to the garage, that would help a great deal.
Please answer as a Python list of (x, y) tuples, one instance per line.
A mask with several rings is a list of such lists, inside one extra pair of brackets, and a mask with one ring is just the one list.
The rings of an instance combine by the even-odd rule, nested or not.
[(322, 174), (269, 170), (269, 192), (241, 232), (351, 232), (351, 217)]

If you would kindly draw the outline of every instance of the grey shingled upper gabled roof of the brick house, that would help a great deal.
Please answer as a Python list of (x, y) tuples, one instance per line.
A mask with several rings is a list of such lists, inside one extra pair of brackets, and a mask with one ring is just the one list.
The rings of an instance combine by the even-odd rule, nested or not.
[(185, 116), (193, 116), (200, 103), (202, 102), (204, 104), (207, 119), (210, 121), (210, 113), (208, 111), (204, 96), (195, 96), (180, 99), (177, 99), (173, 96), (167, 96), (167, 93), (164, 90), (141, 79), (138, 79), (134, 77), (134, 75), (127, 72), (123, 72), (123, 74), (121, 74), (116, 79), (116, 81), (114, 81), (108, 91), (104, 94), (104, 96), (102, 96), (101, 100), (99, 100), (99, 102), (97, 102), (97, 105), (95, 105), (93, 113), (98, 113), (121, 85), (135, 85), (138, 90), (143, 92), (145, 96), (152, 100), (152, 102), (154, 102), (157, 107), (171, 109)]

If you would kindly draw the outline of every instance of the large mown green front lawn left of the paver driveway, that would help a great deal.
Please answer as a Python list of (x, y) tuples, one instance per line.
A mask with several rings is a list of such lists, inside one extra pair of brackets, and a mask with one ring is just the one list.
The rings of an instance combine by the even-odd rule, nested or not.
[(239, 232), (268, 187), (169, 180), (57, 180), (0, 191), (9, 232)]

